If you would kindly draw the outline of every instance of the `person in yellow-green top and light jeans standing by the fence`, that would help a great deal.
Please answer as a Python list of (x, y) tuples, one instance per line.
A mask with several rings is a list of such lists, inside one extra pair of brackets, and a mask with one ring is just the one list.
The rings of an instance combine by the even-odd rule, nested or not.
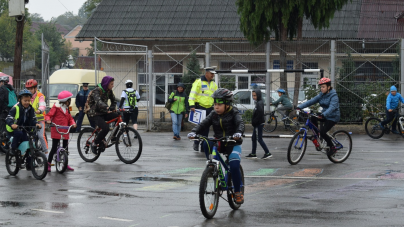
[(171, 120), (173, 122), (173, 132), (175, 140), (181, 140), (181, 122), (182, 116), (185, 114), (185, 118), (188, 117), (189, 104), (188, 96), (184, 92), (185, 86), (183, 83), (178, 83), (177, 90), (173, 91), (168, 97), (168, 102), (171, 103)]

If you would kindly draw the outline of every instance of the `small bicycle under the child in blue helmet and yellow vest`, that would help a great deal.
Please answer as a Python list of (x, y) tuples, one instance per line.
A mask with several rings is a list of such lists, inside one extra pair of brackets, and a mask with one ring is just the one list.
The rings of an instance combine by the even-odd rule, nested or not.
[[(26, 128), (34, 128), (35, 130), (28, 131)], [(16, 151), (16, 154), (6, 154), (7, 172), (15, 176), (20, 169), (26, 168), (27, 164), (31, 166), (32, 175), (37, 180), (42, 180), (48, 174), (48, 160), (42, 150), (36, 148), (35, 137), (37, 135), (36, 126), (19, 126), (18, 129), (24, 130), (28, 134), (28, 141), (22, 142)], [(10, 138), (10, 141), (13, 137)], [(30, 161), (30, 163), (28, 163)]]

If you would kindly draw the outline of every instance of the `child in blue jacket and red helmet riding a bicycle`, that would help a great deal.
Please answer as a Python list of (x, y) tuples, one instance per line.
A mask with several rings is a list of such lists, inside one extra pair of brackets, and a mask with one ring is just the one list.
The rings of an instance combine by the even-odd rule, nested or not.
[(339, 99), (337, 92), (331, 87), (331, 80), (329, 78), (321, 78), (318, 85), (320, 85), (320, 94), (307, 102), (300, 104), (297, 109), (304, 109), (316, 103), (319, 103), (323, 108), (320, 115), (317, 117), (312, 116), (310, 120), (317, 128), (318, 121), (324, 122), (324, 126), (320, 129), (320, 136), (327, 142), (327, 146), (329, 147), (327, 155), (332, 156), (337, 150), (332, 143), (331, 138), (327, 135), (327, 132), (330, 131), (340, 120)]

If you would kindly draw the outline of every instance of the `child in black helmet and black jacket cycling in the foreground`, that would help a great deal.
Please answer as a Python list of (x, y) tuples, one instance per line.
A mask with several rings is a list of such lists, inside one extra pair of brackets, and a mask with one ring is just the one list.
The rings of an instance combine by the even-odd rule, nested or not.
[[(244, 133), (244, 121), (241, 118), (238, 110), (231, 104), (233, 102), (233, 94), (225, 88), (217, 89), (213, 94), (214, 111), (212, 111), (199, 125), (192, 129), (188, 134), (188, 138), (195, 138), (197, 134), (201, 134), (213, 126), (215, 138), (222, 138), (232, 136), (236, 143), (219, 143), (219, 151), (221, 153), (229, 154), (229, 166), (231, 177), (234, 183), (235, 202), (238, 204), (244, 203), (244, 195), (241, 192), (241, 144), (243, 142), (241, 136)], [(211, 153), (210, 147), (213, 142), (203, 142), (202, 147), (205, 151), (206, 158), (209, 158)]]

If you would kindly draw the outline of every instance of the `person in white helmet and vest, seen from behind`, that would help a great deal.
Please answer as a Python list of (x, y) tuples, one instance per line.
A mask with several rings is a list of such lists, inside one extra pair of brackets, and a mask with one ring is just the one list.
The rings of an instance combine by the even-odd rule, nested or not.
[[(127, 80), (125, 82), (126, 90), (122, 91), (121, 102), (119, 103), (119, 109), (122, 109), (122, 106), (125, 110), (129, 112), (123, 113), (123, 121), (126, 122), (126, 125), (129, 125), (129, 121), (132, 119), (133, 128), (137, 130), (137, 116), (139, 114), (139, 110), (137, 107), (137, 102), (140, 100), (139, 93), (133, 89), (133, 82), (131, 80)], [(136, 139), (135, 135), (135, 139)]]

